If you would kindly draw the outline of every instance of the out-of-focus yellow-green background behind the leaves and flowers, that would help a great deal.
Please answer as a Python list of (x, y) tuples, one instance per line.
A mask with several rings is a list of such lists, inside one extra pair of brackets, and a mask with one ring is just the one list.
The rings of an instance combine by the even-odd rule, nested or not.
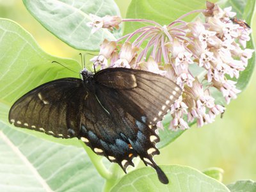
[[(131, 0), (116, 0), (125, 17)], [(0, 17), (18, 22), (34, 36), (50, 54), (80, 61), (79, 52), (61, 42), (43, 28), (26, 10), (20, 0), (0, 0)], [(223, 118), (201, 128), (196, 126), (161, 150), (155, 159), (159, 164), (182, 164), (198, 170), (222, 168), (223, 182), (256, 180), (256, 77), (236, 100), (227, 106)]]

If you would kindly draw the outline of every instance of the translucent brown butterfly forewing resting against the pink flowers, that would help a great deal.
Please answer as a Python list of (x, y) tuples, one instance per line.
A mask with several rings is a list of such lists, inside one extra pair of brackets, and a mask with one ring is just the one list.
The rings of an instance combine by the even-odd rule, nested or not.
[(95, 74), (95, 81), (118, 90), (116, 100), (136, 119), (145, 116), (153, 125), (163, 119), (182, 93), (180, 87), (166, 77), (130, 68), (102, 70)]

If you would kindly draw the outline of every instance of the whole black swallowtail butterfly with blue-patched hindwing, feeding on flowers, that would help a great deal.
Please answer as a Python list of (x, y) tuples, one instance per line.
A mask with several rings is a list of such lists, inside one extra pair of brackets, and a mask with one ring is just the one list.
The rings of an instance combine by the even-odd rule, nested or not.
[(82, 79), (68, 77), (42, 84), (17, 100), (9, 113), (16, 127), (57, 138), (78, 138), (93, 152), (118, 163), (126, 173), (140, 156), (158, 178), (168, 178), (153, 156), (159, 154), (156, 123), (182, 93), (170, 79), (131, 68), (106, 68)]

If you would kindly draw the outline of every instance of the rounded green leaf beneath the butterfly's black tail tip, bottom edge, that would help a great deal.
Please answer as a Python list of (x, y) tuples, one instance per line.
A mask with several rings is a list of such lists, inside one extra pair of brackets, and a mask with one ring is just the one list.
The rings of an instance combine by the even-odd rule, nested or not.
[(175, 191), (175, 192), (199, 192), (199, 191), (225, 191), (228, 188), (204, 173), (188, 166), (161, 166), (166, 173), (169, 184), (164, 185), (157, 179), (157, 174), (152, 168), (141, 168), (125, 175), (114, 186), (115, 191)]

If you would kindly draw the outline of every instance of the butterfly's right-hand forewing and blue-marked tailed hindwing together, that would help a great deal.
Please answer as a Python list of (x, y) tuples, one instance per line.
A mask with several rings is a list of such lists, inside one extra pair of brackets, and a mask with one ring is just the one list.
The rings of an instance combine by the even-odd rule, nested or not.
[(152, 159), (159, 154), (155, 130), (181, 94), (179, 86), (163, 76), (126, 68), (108, 68), (94, 77), (95, 95), (84, 102), (81, 140), (124, 171), (140, 156), (156, 169), (161, 182), (168, 183)]

